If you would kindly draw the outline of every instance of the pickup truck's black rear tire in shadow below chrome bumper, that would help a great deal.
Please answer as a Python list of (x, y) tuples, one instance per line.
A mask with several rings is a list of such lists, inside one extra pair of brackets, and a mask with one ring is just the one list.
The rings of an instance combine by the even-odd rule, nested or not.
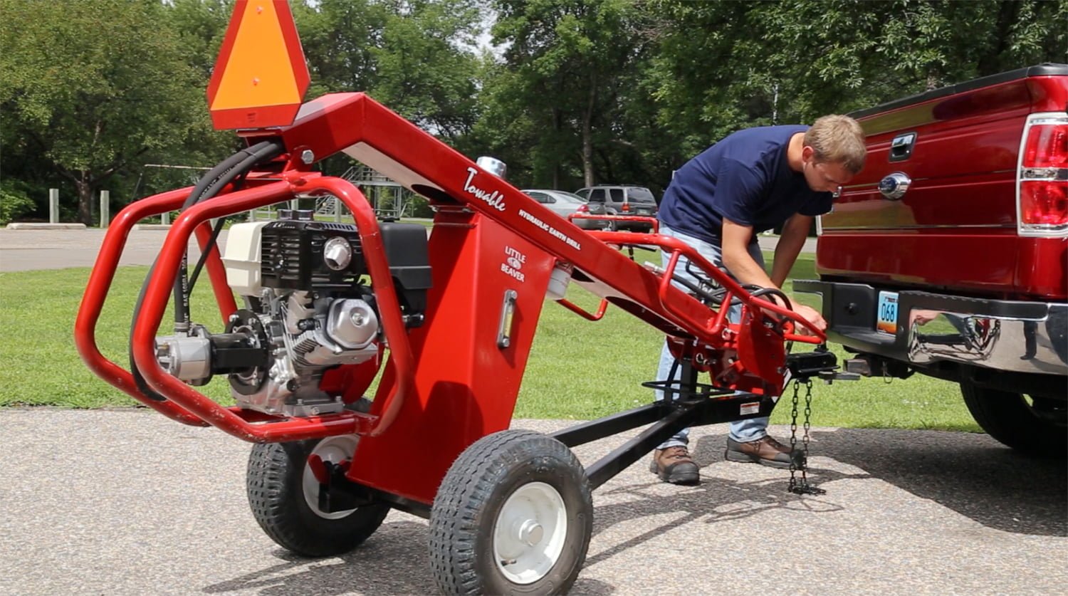
[(976, 424), (1002, 444), (1039, 457), (1068, 457), (1068, 426), (1035, 415), (1023, 395), (968, 381), (960, 393)]

